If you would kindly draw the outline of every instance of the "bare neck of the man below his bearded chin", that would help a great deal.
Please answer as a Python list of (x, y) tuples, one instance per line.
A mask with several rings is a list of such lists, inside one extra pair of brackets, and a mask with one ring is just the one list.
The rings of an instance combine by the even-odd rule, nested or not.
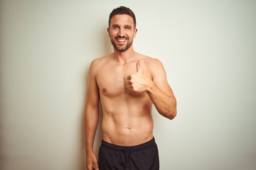
[(114, 48), (114, 58), (116, 58), (117, 62), (120, 64), (126, 64), (127, 62), (133, 60), (136, 56), (137, 52), (134, 51), (132, 45), (124, 52), (119, 52)]

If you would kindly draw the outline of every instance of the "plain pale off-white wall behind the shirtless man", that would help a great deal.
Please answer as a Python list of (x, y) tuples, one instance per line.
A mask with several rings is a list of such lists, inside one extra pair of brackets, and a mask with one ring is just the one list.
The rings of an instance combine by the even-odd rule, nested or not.
[(178, 101), (174, 120), (152, 113), (161, 169), (256, 169), (256, 1), (0, 5), (0, 169), (85, 169), (87, 71), (112, 52), (120, 5), (137, 16), (134, 49), (163, 62)]

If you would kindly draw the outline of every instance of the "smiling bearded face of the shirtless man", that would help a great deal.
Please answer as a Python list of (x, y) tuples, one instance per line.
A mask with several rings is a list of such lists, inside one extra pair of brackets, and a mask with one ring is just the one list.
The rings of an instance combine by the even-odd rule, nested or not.
[(134, 28), (132, 16), (117, 14), (111, 18), (107, 32), (114, 48), (119, 52), (124, 52), (132, 45), (137, 29)]

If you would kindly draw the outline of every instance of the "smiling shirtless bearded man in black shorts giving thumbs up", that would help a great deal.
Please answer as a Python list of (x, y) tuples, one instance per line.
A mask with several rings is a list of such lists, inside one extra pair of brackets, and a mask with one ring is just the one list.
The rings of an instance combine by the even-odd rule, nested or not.
[[(176, 98), (163, 65), (134, 51), (134, 13), (124, 6), (110, 13), (108, 35), (114, 52), (93, 60), (85, 108), (86, 166), (95, 169), (159, 169), (153, 137), (152, 103), (166, 118), (176, 116)], [(102, 103), (99, 162), (93, 152)]]

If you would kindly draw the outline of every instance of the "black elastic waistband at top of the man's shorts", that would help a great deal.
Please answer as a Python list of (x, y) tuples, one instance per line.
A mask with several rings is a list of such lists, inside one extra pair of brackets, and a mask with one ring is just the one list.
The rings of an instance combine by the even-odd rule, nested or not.
[(121, 149), (142, 149), (142, 148), (148, 147), (148, 146), (150, 146), (154, 143), (155, 143), (154, 137), (151, 140), (149, 140), (148, 142), (145, 142), (145, 143), (140, 144), (140, 145), (131, 146), (131, 147), (114, 145), (112, 143), (106, 142), (105, 140), (102, 140), (102, 145), (105, 145), (107, 147), (111, 147), (112, 149), (117, 149), (117, 150), (121, 150)]

